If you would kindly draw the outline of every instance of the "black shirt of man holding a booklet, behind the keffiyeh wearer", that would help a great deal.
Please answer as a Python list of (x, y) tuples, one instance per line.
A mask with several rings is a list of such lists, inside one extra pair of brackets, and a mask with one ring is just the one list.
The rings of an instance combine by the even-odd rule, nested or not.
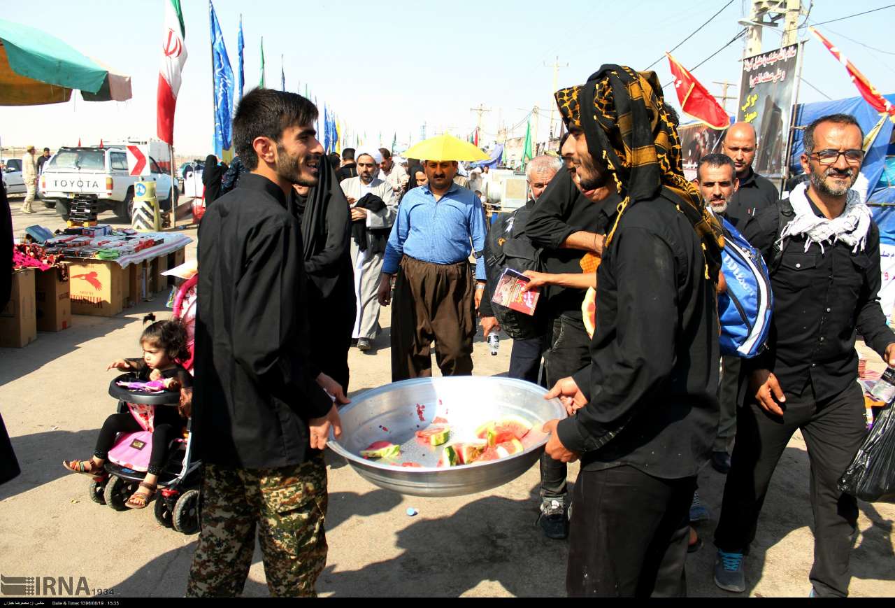
[[(580, 262), (587, 252), (564, 249), (563, 241), (579, 231), (606, 234), (620, 201), (618, 194), (611, 194), (600, 202), (588, 201), (575, 187), (568, 172), (558, 171), (541, 193), (525, 228), (532, 243), (544, 250), (542, 259), (546, 271), (551, 274), (581, 273)], [(582, 318), (584, 290), (551, 285), (542, 297), (547, 298), (551, 318), (559, 315)]]

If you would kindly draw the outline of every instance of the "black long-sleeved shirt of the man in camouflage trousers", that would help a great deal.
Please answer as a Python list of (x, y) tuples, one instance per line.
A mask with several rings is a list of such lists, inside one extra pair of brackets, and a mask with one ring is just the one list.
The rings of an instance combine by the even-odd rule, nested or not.
[(302, 230), (286, 202), (247, 174), (200, 224), (192, 429), (204, 462), (302, 463), (309, 419), (332, 407), (311, 363)]

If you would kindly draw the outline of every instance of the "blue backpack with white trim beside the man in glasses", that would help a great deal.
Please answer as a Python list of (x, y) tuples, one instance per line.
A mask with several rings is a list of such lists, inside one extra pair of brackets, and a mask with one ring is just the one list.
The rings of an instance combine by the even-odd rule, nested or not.
[(721, 218), (721, 224), (721, 272), (727, 281), (727, 291), (718, 295), (721, 355), (751, 359), (761, 351), (771, 329), (771, 278), (762, 253), (727, 219)]

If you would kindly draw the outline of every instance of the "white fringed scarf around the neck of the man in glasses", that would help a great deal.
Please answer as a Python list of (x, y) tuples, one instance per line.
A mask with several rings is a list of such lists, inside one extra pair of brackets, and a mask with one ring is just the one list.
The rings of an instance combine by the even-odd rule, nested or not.
[(796, 212), (796, 217), (783, 228), (780, 244), (787, 236), (805, 235), (805, 251), (808, 251), (812, 243), (816, 243), (823, 253), (824, 243), (835, 244), (839, 241), (850, 246), (852, 253), (864, 251), (871, 214), (870, 208), (861, 201), (857, 191), (848, 191), (845, 210), (839, 218), (834, 219), (814, 215), (806, 191), (807, 184), (803, 183), (789, 193), (789, 203)]

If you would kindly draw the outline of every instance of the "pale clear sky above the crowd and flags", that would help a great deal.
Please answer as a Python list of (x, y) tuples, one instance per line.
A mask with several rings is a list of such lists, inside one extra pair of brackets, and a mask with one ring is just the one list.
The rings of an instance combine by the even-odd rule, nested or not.
[[(207, 0), (182, 0), (189, 52), (177, 101), (178, 154), (205, 156), (212, 148), (211, 57)], [(322, 105), (333, 107), (367, 142), (400, 148), (409, 137), (449, 130), (461, 137), (475, 127), (471, 108), (484, 107), (482, 141), (493, 140), (500, 124), (525, 130), (525, 116), (541, 107), (539, 135), (547, 137), (553, 69), (563, 67), (558, 85), (578, 84), (603, 63), (644, 69), (676, 46), (726, 0), (626, 2), (542, 0), (513, 2), (392, 3), (343, 0), (216, 0), (227, 53), (237, 69), (240, 13), (245, 36), (246, 90), (260, 77), (264, 37), (267, 84), (279, 87), (280, 56), (287, 90), (305, 83)], [(674, 56), (691, 68), (733, 38), (750, 3), (735, 0)], [(804, 0), (807, 4), (807, 0)], [(815, 0), (808, 22), (837, 19), (892, 4), (886, 0)], [(163, 0), (40, 0), (4, 2), (3, 18), (28, 24), (68, 42), (132, 76), (133, 98), (124, 103), (87, 103), (77, 94), (66, 104), (0, 107), (4, 146), (85, 144), (100, 138), (152, 137), (156, 133), (156, 87), (161, 55)], [(804, 20), (803, 20), (804, 21)], [(895, 7), (819, 27), (883, 93), (895, 90)], [(763, 49), (780, 46), (780, 33), (765, 28)], [(800, 30), (802, 38), (808, 36)], [(695, 70), (714, 94), (712, 81), (739, 81), (744, 43), (737, 40)], [(800, 101), (853, 97), (857, 90), (844, 68), (812, 37), (805, 46), (805, 81)], [(568, 64), (566, 66), (566, 64)], [(668, 61), (655, 69), (670, 83)], [(677, 106), (674, 88), (665, 89)], [(736, 95), (731, 88), (729, 94)], [(823, 91), (823, 94), (822, 92)], [(735, 101), (728, 103), (733, 113)], [(555, 116), (558, 119), (558, 116)], [(480, 143), (482, 143), (480, 141)], [(353, 141), (352, 141), (353, 143)]]

